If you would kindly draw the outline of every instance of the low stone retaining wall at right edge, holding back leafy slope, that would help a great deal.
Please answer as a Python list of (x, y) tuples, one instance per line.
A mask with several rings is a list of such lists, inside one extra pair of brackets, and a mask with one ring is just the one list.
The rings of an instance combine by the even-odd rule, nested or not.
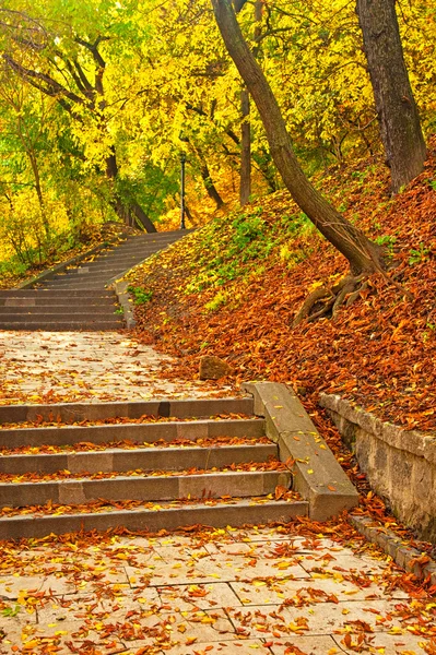
[(321, 394), (374, 490), (423, 539), (436, 543), (436, 438), (384, 422), (338, 395)]

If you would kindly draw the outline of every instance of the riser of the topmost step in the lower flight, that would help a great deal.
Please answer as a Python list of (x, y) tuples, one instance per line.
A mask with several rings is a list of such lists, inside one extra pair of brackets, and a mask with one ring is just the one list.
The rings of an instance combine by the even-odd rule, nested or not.
[[(20, 422), (26, 420), (60, 420), (75, 422), (83, 420), (104, 420), (106, 418), (126, 417), (141, 418), (141, 416), (161, 416), (176, 418), (201, 418), (217, 416), (219, 414), (254, 414), (252, 398), (207, 398), (187, 401), (142, 401), (138, 403), (66, 403), (59, 405), (0, 405), (0, 422)], [(54, 418), (55, 417), (55, 418)], [(204, 421), (202, 421), (204, 422)], [(211, 421), (212, 425), (226, 426), (234, 421)], [(246, 421), (237, 422), (244, 425)], [(257, 420), (263, 428), (263, 421)], [(154, 424), (156, 426), (156, 424)], [(167, 425), (167, 424), (157, 424)], [(174, 424), (179, 426), (180, 424)], [(189, 421), (182, 424), (189, 425)], [(190, 424), (192, 426), (192, 424)], [(193, 424), (197, 425), (197, 424)], [(109, 427), (109, 426), (108, 426)], [(122, 426), (110, 426), (120, 429)], [(39, 429), (39, 428), (38, 428)], [(56, 428), (54, 428), (56, 429)], [(64, 428), (67, 429), (67, 428)], [(73, 428), (78, 429), (78, 428)], [(87, 429), (87, 428), (86, 428)], [(102, 429), (102, 428), (93, 428)], [(105, 428), (106, 429), (106, 428)], [(0, 430), (0, 436), (4, 430)], [(12, 432), (10, 432), (12, 434)], [(85, 439), (85, 441), (87, 441)], [(146, 441), (146, 440), (144, 440)]]

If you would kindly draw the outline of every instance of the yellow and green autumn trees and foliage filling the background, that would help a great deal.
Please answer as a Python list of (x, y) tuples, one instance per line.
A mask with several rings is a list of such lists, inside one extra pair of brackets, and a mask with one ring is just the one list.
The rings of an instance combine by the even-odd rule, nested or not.
[[(355, 2), (260, 4), (259, 14), (247, 3), (238, 20), (305, 172), (380, 155)], [(397, 13), (429, 135), (435, 9), (428, 0), (403, 0)], [(180, 157), (187, 158), (188, 225), (283, 186), (209, 0), (44, 0), (36, 7), (9, 0), (0, 9), (0, 34), (5, 284), (90, 242), (95, 224), (176, 227)]]

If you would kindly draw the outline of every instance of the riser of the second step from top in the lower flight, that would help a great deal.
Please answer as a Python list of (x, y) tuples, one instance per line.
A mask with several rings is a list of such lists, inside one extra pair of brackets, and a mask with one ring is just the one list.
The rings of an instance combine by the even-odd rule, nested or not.
[[(0, 413), (5, 414), (5, 409), (16, 409), (20, 407), (0, 407)], [(11, 412), (12, 414), (12, 412)], [(10, 415), (11, 415), (10, 414)], [(17, 412), (16, 412), (17, 414)], [(37, 410), (30, 413), (34, 420)], [(56, 417), (57, 414), (54, 413)], [(139, 414), (141, 416), (141, 414)], [(133, 418), (133, 417), (132, 417)], [(4, 422), (14, 422), (4, 420)], [(162, 424), (140, 424), (140, 425), (118, 425), (118, 426), (93, 426), (74, 428), (28, 428), (21, 430), (0, 430), (0, 448), (22, 448), (37, 445), (73, 445), (81, 442), (90, 443), (110, 443), (113, 441), (129, 440), (133, 443), (154, 443), (161, 439), (164, 441), (175, 441), (176, 439), (189, 439), (197, 441), (199, 439), (215, 439), (217, 437), (246, 437), (257, 439), (264, 436), (264, 425), (262, 420), (220, 420), (220, 421), (185, 421), (185, 422), (162, 422)], [(69, 468), (66, 466), (64, 468)]]

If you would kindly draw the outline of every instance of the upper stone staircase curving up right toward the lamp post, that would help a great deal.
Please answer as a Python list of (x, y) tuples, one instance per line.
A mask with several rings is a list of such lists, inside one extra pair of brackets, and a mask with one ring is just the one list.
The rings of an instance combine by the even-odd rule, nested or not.
[(125, 327), (122, 313), (117, 313), (118, 298), (106, 285), (186, 234), (175, 230), (129, 237), (90, 261), (36, 281), (35, 288), (0, 290), (0, 330)]

